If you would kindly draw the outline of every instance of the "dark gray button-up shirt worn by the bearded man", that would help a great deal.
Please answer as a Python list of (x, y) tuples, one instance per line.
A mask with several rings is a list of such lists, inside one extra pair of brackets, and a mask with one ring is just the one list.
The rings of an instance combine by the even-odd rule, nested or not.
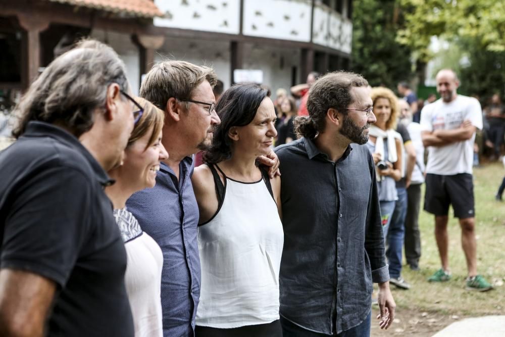
[(275, 152), (284, 226), (280, 314), (311, 331), (348, 330), (369, 314), (372, 282), (389, 280), (372, 156), (352, 144), (334, 163), (306, 138)]

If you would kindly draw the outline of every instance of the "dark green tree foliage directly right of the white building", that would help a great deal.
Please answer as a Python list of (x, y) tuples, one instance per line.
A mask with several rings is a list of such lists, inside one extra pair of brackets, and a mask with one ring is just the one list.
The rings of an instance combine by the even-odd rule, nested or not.
[(352, 68), (370, 85), (395, 88), (413, 75), (411, 49), (396, 41), (401, 27), (397, 0), (353, 3)]

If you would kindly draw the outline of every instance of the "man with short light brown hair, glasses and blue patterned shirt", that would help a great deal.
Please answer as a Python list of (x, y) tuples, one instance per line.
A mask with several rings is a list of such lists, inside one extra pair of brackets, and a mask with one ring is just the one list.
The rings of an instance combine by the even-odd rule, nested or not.
[[(156, 186), (137, 192), (126, 206), (163, 252), (161, 297), (165, 337), (194, 335), (200, 259), (199, 212), (191, 175), (193, 155), (211, 145), (214, 127), (221, 123), (214, 110), (212, 89), (216, 82), (217, 76), (211, 68), (165, 61), (147, 73), (140, 87), (141, 97), (165, 111), (162, 143), (170, 157), (160, 165)], [(272, 165), (270, 159), (263, 160)]]

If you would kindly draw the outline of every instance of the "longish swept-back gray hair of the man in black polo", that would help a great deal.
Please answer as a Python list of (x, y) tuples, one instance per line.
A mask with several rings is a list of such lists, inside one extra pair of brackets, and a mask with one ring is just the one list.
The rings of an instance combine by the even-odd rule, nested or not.
[(105, 109), (112, 83), (129, 91), (125, 65), (116, 52), (96, 40), (79, 41), (31, 84), (15, 109), (20, 119), (13, 135), (21, 136), (30, 121), (42, 121), (59, 123), (79, 137), (93, 126), (94, 111)]

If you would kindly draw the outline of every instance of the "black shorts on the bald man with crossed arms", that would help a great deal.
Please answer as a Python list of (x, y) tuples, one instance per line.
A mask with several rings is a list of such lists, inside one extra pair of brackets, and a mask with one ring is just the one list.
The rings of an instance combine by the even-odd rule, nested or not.
[(454, 216), (475, 217), (473, 177), (469, 173), (455, 175), (426, 175), (424, 210), (434, 215), (448, 215), (452, 205)]

